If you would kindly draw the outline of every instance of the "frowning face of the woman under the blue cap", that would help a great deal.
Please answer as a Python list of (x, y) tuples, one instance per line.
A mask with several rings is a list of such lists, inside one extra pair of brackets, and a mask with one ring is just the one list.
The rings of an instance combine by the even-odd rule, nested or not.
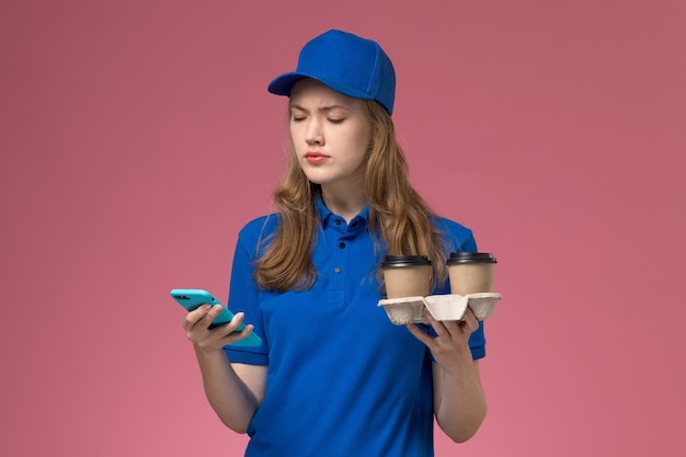
[[(365, 103), (306, 78), (290, 91), (290, 138), (307, 178), (327, 190), (363, 188), (371, 124)], [(352, 186), (352, 187), (351, 187)]]

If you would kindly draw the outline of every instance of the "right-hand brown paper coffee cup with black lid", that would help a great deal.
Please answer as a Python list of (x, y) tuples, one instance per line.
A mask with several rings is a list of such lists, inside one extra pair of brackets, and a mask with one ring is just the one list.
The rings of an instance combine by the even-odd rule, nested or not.
[(498, 261), (489, 252), (453, 252), (448, 258), (450, 293), (457, 295), (493, 292)]

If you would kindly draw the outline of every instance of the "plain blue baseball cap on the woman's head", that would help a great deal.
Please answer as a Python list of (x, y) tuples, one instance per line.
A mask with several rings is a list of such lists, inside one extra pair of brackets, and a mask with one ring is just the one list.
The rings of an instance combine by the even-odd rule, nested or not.
[(393, 64), (371, 39), (336, 30), (319, 35), (300, 50), (296, 71), (274, 79), (268, 91), (290, 95), (293, 84), (302, 78), (316, 79), (347, 96), (375, 100), (388, 114), (393, 112)]

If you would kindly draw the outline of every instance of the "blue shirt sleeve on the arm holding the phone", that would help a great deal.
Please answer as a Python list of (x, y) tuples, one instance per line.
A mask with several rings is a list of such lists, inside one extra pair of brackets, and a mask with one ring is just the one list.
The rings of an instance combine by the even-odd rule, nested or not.
[(231, 362), (250, 365), (268, 365), (268, 342), (264, 332), (264, 320), (260, 309), (260, 289), (253, 278), (256, 244), (263, 225), (255, 220), (239, 233), (233, 253), (231, 283), (229, 286), (229, 309), (245, 313), (245, 323), (254, 325), (254, 333), (262, 339), (260, 346), (225, 346), (224, 351)]

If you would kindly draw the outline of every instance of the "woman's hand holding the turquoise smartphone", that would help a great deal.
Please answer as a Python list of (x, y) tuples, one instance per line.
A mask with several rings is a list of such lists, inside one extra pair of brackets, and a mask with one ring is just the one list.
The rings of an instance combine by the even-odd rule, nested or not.
[(183, 329), (186, 332), (186, 338), (193, 343), (196, 351), (221, 351), (227, 344), (243, 340), (252, 333), (254, 328), (252, 324), (245, 325), (240, 332), (236, 331), (245, 317), (242, 312), (237, 313), (230, 322), (209, 330), (209, 324), (221, 313), (221, 305), (210, 306), (205, 304), (183, 318)]

